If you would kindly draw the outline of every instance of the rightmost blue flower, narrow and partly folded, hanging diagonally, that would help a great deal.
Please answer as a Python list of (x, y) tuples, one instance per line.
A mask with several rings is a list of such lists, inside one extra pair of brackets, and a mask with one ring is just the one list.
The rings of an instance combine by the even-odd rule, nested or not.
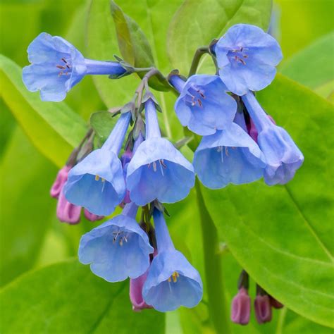
[(242, 101), (259, 132), (257, 142), (266, 158), (264, 181), (267, 185), (287, 183), (302, 166), (302, 152), (290, 135), (268, 118), (252, 92), (243, 96)]

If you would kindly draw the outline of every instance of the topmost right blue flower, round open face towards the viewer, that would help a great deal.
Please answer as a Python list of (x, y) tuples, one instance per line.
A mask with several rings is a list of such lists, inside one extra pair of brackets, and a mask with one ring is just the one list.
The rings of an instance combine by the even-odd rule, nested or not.
[(233, 25), (214, 47), (219, 75), (230, 92), (267, 87), (275, 78), (275, 66), (282, 60), (280, 45), (259, 27)]

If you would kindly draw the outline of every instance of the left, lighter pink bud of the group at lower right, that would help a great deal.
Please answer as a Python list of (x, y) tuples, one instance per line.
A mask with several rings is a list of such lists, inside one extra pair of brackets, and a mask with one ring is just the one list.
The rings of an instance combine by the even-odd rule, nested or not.
[(247, 325), (251, 309), (251, 299), (245, 287), (241, 287), (233, 298), (231, 308), (231, 320), (240, 325)]

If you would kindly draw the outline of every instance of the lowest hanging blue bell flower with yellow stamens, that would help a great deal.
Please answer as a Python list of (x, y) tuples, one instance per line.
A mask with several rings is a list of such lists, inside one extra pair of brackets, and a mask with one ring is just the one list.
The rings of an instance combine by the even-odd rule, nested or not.
[(163, 214), (154, 211), (158, 255), (154, 257), (142, 289), (144, 301), (166, 312), (180, 306), (195, 307), (202, 299), (203, 284), (198, 271), (175, 250)]

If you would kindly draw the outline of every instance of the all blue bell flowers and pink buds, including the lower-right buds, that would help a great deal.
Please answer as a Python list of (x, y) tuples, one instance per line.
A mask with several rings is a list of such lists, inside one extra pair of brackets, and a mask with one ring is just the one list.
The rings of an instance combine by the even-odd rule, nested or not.
[[(203, 136), (192, 163), (161, 136), (160, 107), (148, 85), (159, 71), (142, 69), (147, 73), (135, 97), (116, 111), (120, 117), (107, 140), (94, 149), (90, 129), (51, 188), (51, 196), (58, 198), (57, 216), (68, 223), (78, 223), (82, 207), (91, 221), (123, 208), (82, 236), (79, 260), (109, 282), (130, 278), (134, 311), (194, 307), (202, 299), (199, 273), (175, 249), (163, 215), (163, 204), (187, 197), (196, 174), (211, 189), (262, 177), (267, 185), (285, 184), (304, 160), (290, 135), (254, 96), (276, 74), (282, 58), (276, 40), (259, 27), (235, 25), (208, 52), (216, 75), (168, 76), (179, 93), (175, 112), (180, 123)], [(137, 70), (120, 59), (84, 58), (66, 40), (46, 33), (30, 44), (28, 58), (32, 64), (23, 69), (23, 82), (30, 91), (39, 90), (44, 101), (61, 101), (85, 75), (117, 79)], [(242, 282), (233, 299), (232, 320), (245, 324), (248, 276), (247, 284)], [(270, 320), (273, 300), (258, 288), (254, 306), (260, 323)]]

